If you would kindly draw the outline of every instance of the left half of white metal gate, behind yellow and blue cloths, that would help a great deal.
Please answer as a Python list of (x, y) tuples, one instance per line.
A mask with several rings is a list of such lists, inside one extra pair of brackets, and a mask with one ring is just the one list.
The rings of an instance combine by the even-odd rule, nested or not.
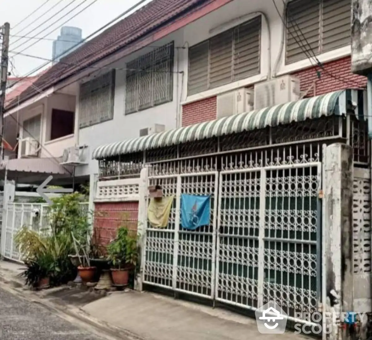
[[(214, 298), (218, 173), (165, 175), (149, 178), (164, 196), (174, 195), (168, 226), (147, 225), (143, 282)], [(211, 220), (197, 231), (180, 227), (180, 195), (211, 195)]]

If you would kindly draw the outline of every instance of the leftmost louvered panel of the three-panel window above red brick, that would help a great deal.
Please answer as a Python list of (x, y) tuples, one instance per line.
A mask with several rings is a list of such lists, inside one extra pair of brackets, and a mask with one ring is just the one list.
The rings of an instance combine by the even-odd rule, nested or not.
[(193, 95), (208, 89), (209, 41), (189, 50), (188, 93)]

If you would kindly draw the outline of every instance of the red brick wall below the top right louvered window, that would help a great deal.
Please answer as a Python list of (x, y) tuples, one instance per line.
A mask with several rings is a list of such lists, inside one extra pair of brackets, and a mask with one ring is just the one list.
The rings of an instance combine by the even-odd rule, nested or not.
[[(330, 61), (329, 63), (324, 63), (323, 68), (325, 72), (319, 67), (310, 67), (308, 69), (292, 73), (294, 76), (298, 77), (301, 80), (301, 91), (307, 91), (315, 81), (316, 93), (314, 93), (314, 88), (312, 88), (308, 92), (307, 97), (312, 97), (314, 95), (323, 95), (324, 93), (346, 88), (363, 88), (366, 86), (366, 77), (358, 76), (357, 74), (351, 73), (350, 57), (345, 57), (338, 60)], [(317, 69), (319, 69), (321, 73), (320, 79), (317, 76)], [(339, 79), (336, 79), (329, 73)]]

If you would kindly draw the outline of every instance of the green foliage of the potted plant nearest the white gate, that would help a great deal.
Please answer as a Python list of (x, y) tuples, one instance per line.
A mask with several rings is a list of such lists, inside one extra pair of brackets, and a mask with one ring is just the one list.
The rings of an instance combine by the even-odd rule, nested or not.
[(114, 268), (135, 266), (138, 258), (137, 238), (129, 233), (128, 228), (119, 228), (116, 238), (107, 246), (107, 254)]

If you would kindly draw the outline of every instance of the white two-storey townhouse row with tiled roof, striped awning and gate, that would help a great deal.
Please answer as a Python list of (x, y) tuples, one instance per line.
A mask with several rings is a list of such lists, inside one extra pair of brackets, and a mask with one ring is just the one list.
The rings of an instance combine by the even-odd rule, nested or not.
[[(251, 310), (275, 299), (295, 320), (350, 306), (331, 293), (350, 284), (370, 312), (371, 148), (350, 13), (351, 0), (153, 0), (10, 102), (25, 146), (8, 176), (89, 181), (102, 238), (121, 223), (141, 234), (139, 289)], [(149, 185), (175, 195), (161, 231)], [(180, 228), (182, 193), (211, 197), (209, 226)]]

